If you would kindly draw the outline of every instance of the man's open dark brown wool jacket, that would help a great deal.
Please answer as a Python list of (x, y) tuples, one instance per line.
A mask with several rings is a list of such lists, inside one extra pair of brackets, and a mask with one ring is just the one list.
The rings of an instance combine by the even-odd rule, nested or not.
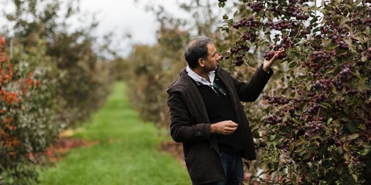
[[(219, 67), (217, 75), (226, 87), (237, 118), (238, 127), (242, 128), (242, 140), (245, 149), (242, 157), (255, 160), (254, 141), (245, 111), (240, 101), (255, 101), (273, 74), (265, 72), (262, 65), (248, 83), (232, 77), (229, 72)], [(226, 181), (220, 150), (214, 134), (210, 134), (210, 121), (205, 104), (197, 87), (185, 69), (179, 78), (167, 89), (170, 107), (170, 133), (176, 142), (182, 142), (185, 164), (193, 185)]]

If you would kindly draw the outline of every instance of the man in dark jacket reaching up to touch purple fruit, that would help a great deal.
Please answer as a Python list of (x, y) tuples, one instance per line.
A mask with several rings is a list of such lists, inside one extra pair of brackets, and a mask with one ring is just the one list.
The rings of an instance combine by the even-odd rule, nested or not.
[[(283, 52), (280, 51), (280, 52)], [(207, 37), (185, 49), (188, 65), (167, 89), (170, 132), (182, 142), (185, 164), (194, 185), (238, 185), (242, 159), (255, 160), (249, 122), (240, 101), (255, 101), (273, 74), (279, 52), (257, 69), (249, 83), (218, 66), (220, 55)]]

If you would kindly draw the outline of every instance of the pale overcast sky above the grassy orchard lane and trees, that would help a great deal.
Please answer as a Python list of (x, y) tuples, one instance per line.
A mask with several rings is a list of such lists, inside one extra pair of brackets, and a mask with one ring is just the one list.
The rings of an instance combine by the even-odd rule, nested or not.
[[(121, 55), (130, 51), (134, 43), (156, 43), (156, 30), (159, 24), (153, 13), (146, 12), (145, 6), (161, 4), (173, 16), (186, 18), (187, 14), (177, 5), (179, 0), (81, 0), (82, 12), (98, 12), (98, 36), (114, 33), (114, 46), (118, 47)], [(131, 39), (125, 38), (127, 34)]]

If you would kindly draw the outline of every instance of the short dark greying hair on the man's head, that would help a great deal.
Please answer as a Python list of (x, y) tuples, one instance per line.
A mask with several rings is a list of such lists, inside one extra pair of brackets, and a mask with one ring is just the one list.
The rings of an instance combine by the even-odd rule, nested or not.
[(190, 68), (195, 68), (198, 65), (198, 59), (207, 58), (207, 45), (214, 44), (214, 40), (200, 36), (190, 41), (185, 48), (184, 56)]

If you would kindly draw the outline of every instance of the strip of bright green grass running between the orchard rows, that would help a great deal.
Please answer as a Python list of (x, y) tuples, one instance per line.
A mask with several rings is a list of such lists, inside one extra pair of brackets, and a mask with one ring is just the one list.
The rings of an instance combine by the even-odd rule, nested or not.
[(116, 83), (105, 106), (73, 136), (99, 144), (74, 149), (55, 166), (40, 168), (42, 185), (191, 184), (182, 165), (158, 149), (159, 142), (170, 137), (140, 120), (126, 88)]

